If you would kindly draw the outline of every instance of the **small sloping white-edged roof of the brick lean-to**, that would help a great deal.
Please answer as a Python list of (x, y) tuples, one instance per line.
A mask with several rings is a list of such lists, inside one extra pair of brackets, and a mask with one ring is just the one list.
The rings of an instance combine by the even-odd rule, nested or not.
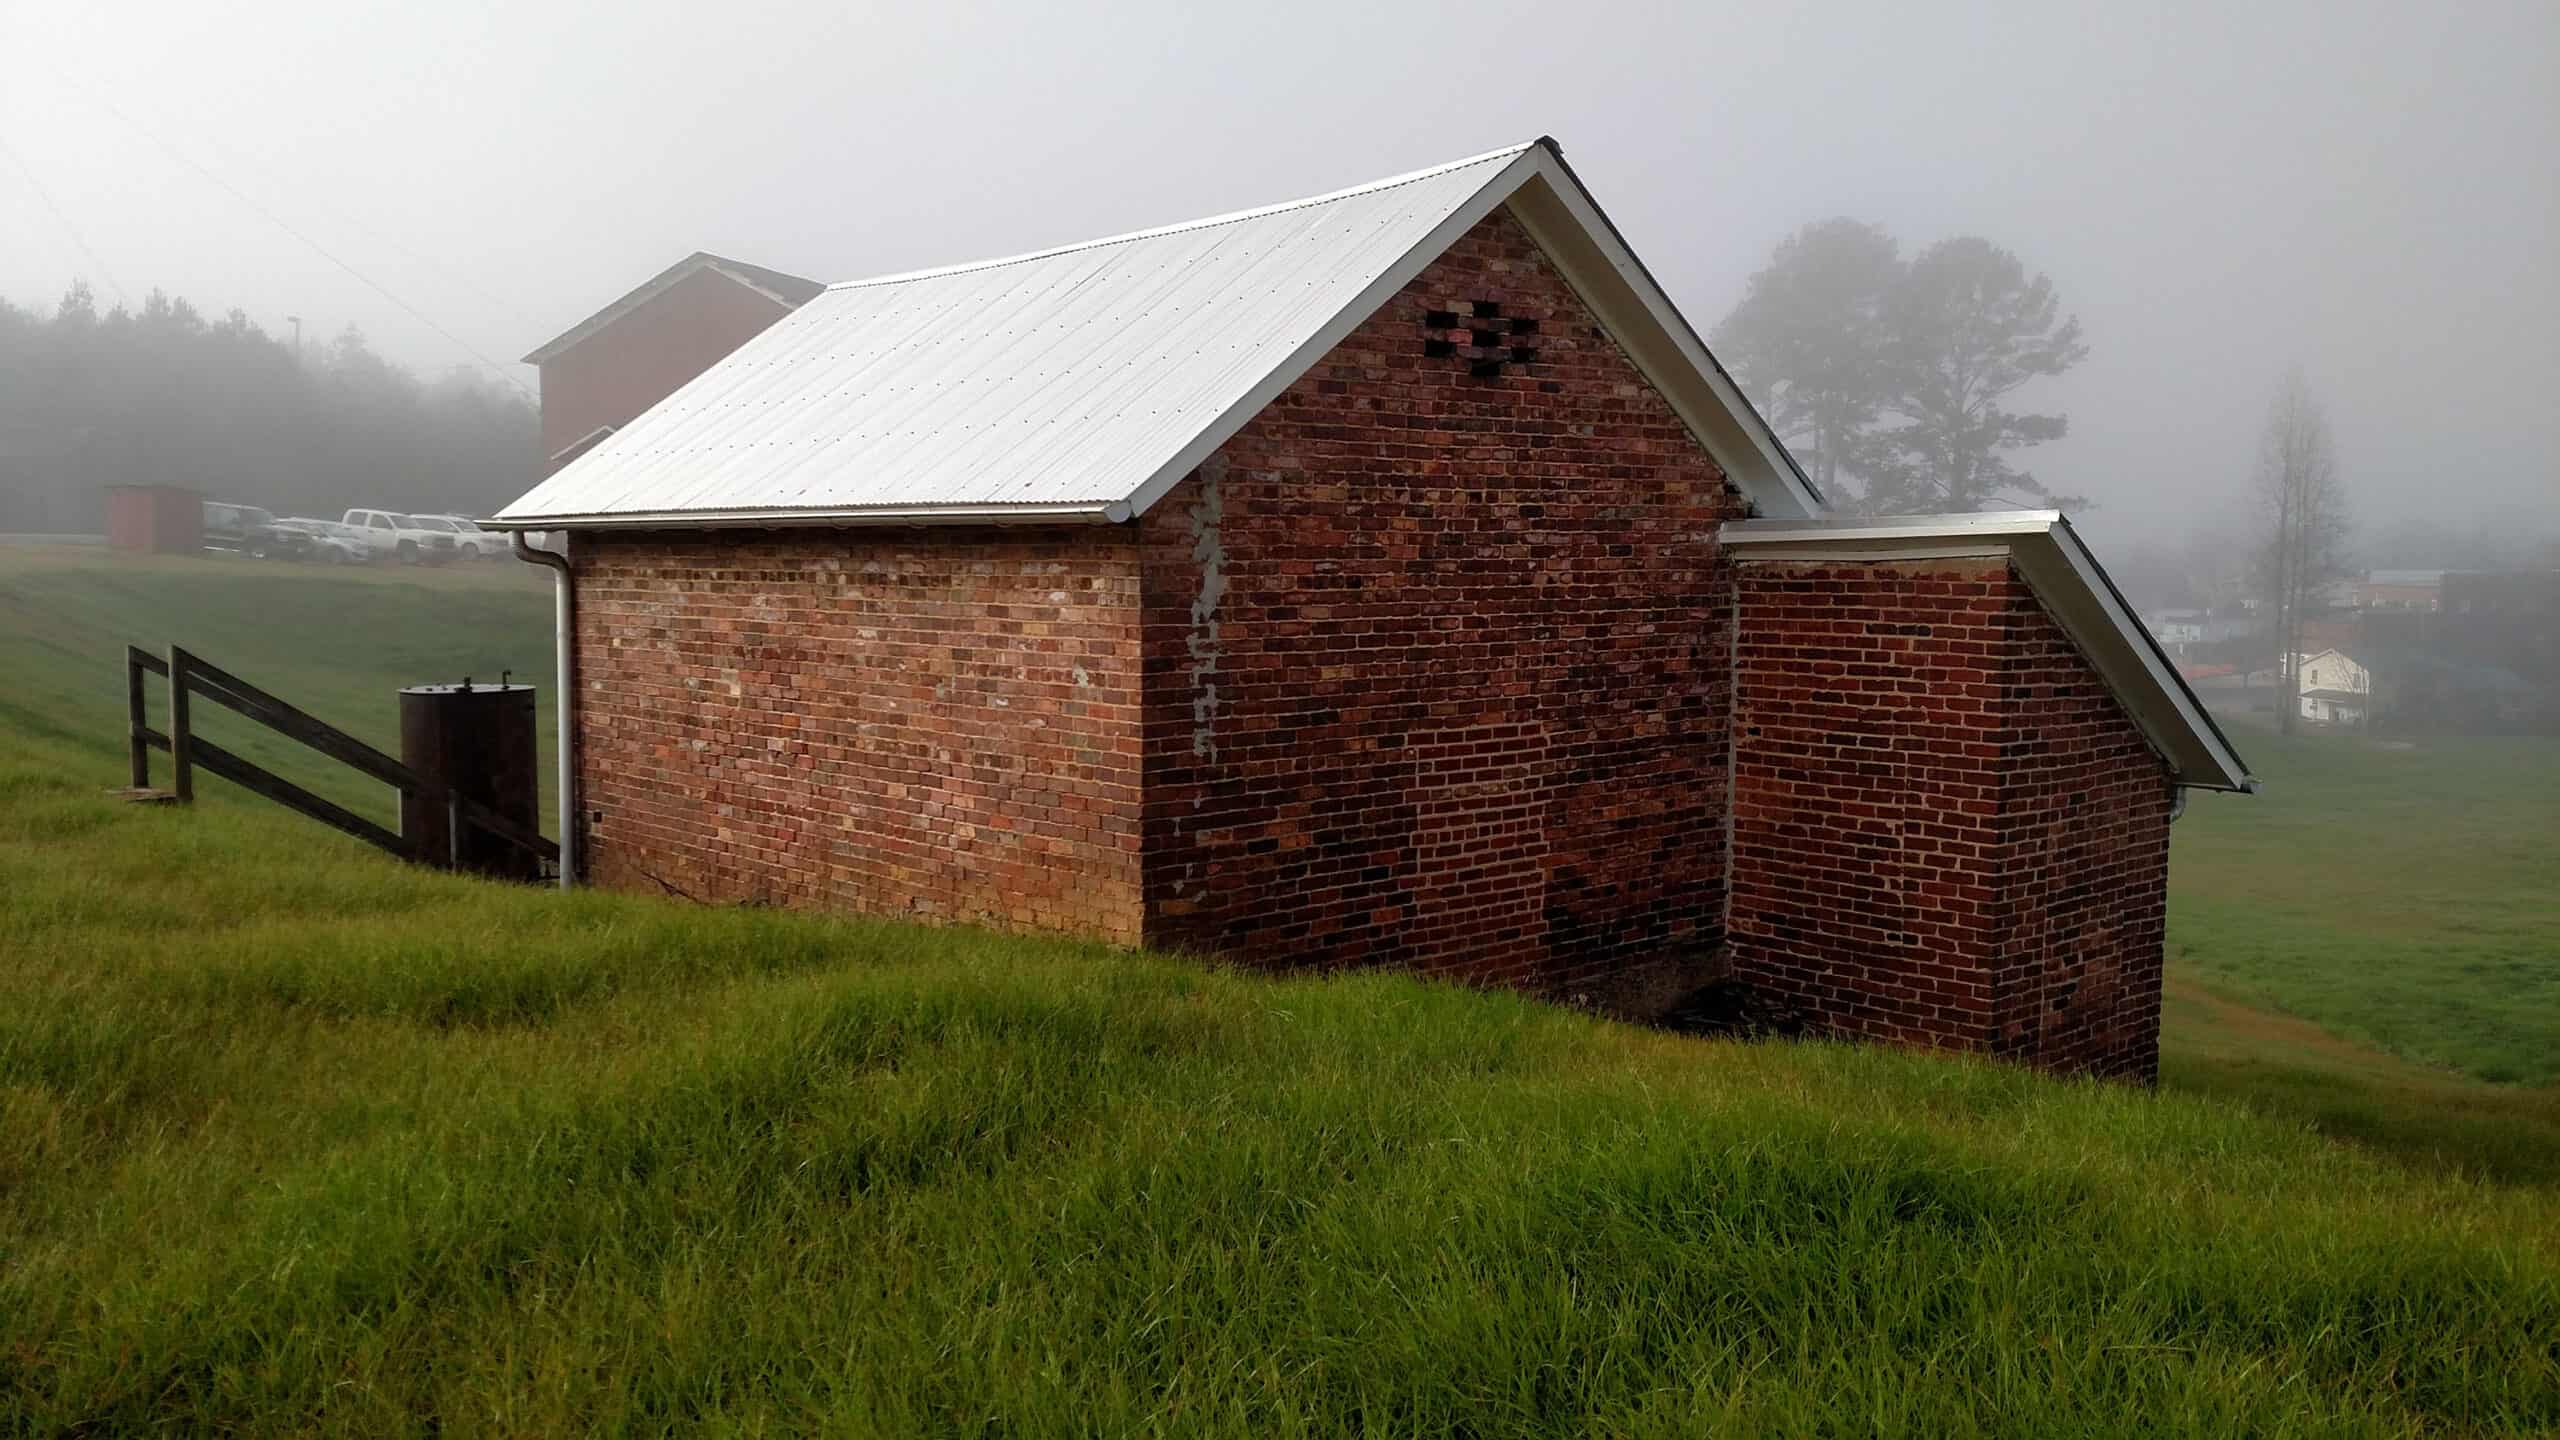
[(2179, 784), (2258, 789), (2258, 779), (2186, 687), (2161, 643), (2125, 605), (2061, 510), (1974, 515), (1830, 515), (1733, 520), (1718, 543), (1743, 561), (1894, 561), (2004, 553), (2071, 635)]

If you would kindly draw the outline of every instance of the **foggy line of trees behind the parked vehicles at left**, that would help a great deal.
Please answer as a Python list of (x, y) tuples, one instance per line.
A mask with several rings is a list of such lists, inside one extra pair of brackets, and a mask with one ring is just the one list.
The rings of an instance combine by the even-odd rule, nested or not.
[(100, 310), (0, 300), (0, 530), (95, 533), (110, 484), (184, 484), (279, 515), (466, 512), (535, 479), (540, 420), (471, 369), (420, 379), (353, 325), (307, 351), (154, 290)]

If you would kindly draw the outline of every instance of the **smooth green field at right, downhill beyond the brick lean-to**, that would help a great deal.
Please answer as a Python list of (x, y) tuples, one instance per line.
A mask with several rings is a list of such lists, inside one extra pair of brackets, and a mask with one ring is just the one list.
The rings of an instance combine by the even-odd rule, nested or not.
[(2412, 1061), (2560, 1081), (2560, 740), (2240, 746), (2268, 789), (2179, 822), (2173, 963)]

